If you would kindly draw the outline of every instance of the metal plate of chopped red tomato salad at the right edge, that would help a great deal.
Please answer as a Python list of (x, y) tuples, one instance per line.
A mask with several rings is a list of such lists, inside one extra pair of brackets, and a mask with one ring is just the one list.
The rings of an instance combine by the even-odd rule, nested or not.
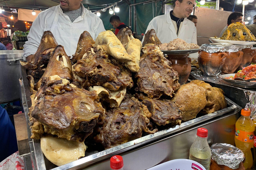
[(244, 80), (250, 80), (256, 78), (256, 64), (251, 64), (247, 67), (244, 67), (242, 70), (239, 70), (237, 73), (233, 74), (224, 74), (219, 76), (226, 82), (229, 82), (233, 86), (244, 87), (244, 88), (255, 88), (256, 81), (241, 81), (234, 80), (235, 78), (243, 78)]

